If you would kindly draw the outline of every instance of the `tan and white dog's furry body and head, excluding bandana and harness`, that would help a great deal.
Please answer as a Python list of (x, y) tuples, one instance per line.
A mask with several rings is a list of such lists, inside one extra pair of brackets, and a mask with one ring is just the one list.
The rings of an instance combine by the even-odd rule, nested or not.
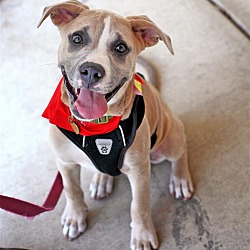
[[(123, 18), (68, 1), (46, 7), (38, 27), (49, 15), (61, 34), (58, 64), (68, 78), (61, 98), (78, 121), (104, 115), (126, 119), (135, 98), (133, 77), (139, 53), (162, 40), (173, 54), (170, 38), (146, 16)], [(176, 198), (189, 199), (193, 192), (182, 122), (149, 83), (143, 85), (143, 97), (145, 115), (121, 168), (132, 188), (130, 247), (137, 250), (159, 246), (151, 219), (150, 162), (172, 162), (169, 188)], [(150, 137), (155, 131), (157, 140), (150, 149)], [(86, 229), (87, 206), (80, 187), (80, 166), (96, 172), (90, 185), (93, 198), (104, 198), (112, 192), (113, 177), (98, 172), (54, 125), (50, 139), (66, 193), (63, 234), (72, 239)]]

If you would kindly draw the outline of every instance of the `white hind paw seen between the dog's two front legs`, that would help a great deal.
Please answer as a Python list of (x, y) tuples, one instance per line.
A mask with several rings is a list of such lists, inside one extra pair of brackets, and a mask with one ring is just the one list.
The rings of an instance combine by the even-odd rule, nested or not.
[(91, 198), (103, 199), (106, 196), (109, 196), (113, 191), (113, 184), (113, 176), (102, 173), (95, 173), (89, 186)]

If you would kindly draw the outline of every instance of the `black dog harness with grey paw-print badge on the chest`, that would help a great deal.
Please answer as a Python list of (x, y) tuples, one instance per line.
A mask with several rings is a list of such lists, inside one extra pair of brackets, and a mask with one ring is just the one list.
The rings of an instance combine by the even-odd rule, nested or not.
[[(136, 95), (130, 116), (120, 121), (113, 131), (93, 136), (77, 135), (58, 127), (61, 132), (80, 148), (102, 173), (111, 176), (121, 174), (120, 169), (127, 149), (132, 145), (136, 130), (142, 123), (145, 113), (143, 96)], [(156, 133), (151, 136), (151, 148), (156, 142)]]

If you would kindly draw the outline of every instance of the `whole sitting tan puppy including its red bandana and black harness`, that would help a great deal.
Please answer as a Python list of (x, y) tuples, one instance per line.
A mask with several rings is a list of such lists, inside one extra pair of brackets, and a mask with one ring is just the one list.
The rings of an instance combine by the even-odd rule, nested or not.
[(73, 239), (87, 227), (83, 166), (95, 172), (93, 198), (112, 192), (113, 176), (127, 175), (132, 189), (130, 247), (156, 249), (150, 163), (171, 161), (169, 189), (177, 199), (191, 198), (193, 185), (184, 126), (154, 86), (135, 74), (135, 66), (140, 52), (158, 41), (173, 54), (171, 40), (146, 16), (123, 18), (78, 1), (46, 7), (38, 27), (48, 16), (61, 34), (63, 79), (44, 117), (52, 123), (50, 143), (66, 194), (63, 234)]

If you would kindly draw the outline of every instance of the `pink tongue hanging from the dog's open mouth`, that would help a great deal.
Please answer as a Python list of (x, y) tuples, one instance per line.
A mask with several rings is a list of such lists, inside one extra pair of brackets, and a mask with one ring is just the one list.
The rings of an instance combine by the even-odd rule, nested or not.
[(108, 110), (105, 96), (87, 89), (81, 89), (75, 107), (83, 118), (96, 119)]

